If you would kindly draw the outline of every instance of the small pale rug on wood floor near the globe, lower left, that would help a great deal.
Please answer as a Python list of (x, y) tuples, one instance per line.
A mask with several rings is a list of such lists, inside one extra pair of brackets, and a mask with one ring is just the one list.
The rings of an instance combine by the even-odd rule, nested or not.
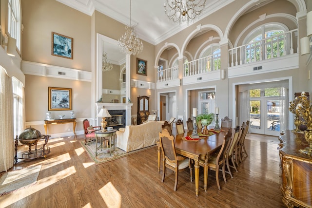
[(37, 183), (41, 165), (5, 172), (0, 178), (0, 196)]

